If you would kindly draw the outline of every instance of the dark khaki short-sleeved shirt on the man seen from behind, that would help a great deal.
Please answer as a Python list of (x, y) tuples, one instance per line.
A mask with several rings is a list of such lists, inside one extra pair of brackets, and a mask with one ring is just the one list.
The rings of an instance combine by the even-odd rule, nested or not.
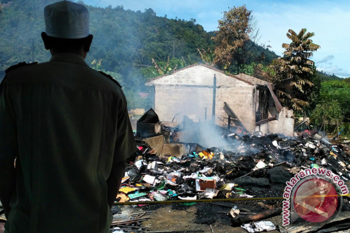
[(109, 232), (106, 180), (135, 148), (121, 88), (81, 56), (8, 72), (0, 163), (16, 158), (16, 189), (5, 232)]

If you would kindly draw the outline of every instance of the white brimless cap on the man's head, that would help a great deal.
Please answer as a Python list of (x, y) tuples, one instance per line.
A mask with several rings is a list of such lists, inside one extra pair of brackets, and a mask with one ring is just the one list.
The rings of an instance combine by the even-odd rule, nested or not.
[(85, 6), (60, 1), (44, 9), (45, 30), (48, 36), (78, 39), (89, 36), (89, 11)]

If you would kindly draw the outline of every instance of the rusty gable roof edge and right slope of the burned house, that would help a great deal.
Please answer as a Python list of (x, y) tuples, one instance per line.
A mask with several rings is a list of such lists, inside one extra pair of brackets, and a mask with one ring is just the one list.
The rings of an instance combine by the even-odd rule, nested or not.
[[(208, 65), (205, 65), (205, 64), (197, 64), (197, 63), (195, 63), (195, 64), (193, 64), (193, 65), (189, 65), (189, 66), (183, 67), (183, 68), (181, 68), (181, 69), (179, 69), (179, 70), (173, 71), (171, 74), (163, 74), (163, 75), (158, 76), (158, 77), (156, 77), (156, 78), (149, 79), (147, 82), (152, 82), (152, 81), (154, 81), (154, 80), (158, 80), (158, 79), (164, 78), (164, 77), (166, 77), (166, 76), (175, 74), (175, 73), (177, 73), (177, 72), (179, 72), (179, 71), (183, 71), (183, 70), (186, 70), (186, 69), (188, 69), (188, 68), (195, 67), (195, 66), (204, 66), (204, 67), (206, 67), (206, 68), (209, 68), (209, 69), (214, 70), (214, 71), (216, 71), (216, 72), (220, 72), (220, 73), (222, 73), (222, 74), (225, 74), (226, 76), (229, 76), (229, 77), (238, 79), (238, 80), (243, 81), (243, 82), (245, 82), (245, 83), (248, 83), (248, 84), (250, 84), (250, 85), (267, 85), (267, 82), (266, 82), (266, 81), (261, 80), (261, 79), (258, 79), (258, 78), (255, 78), (255, 77), (252, 77), (252, 76), (250, 76), (250, 75), (246, 75), (246, 74), (243, 74), (243, 73), (240, 73), (240, 74), (237, 74), (237, 75), (226, 74), (224, 71), (218, 70), (218, 69), (216, 69), (216, 68), (214, 68), (214, 67), (212, 67), (212, 66), (208, 66)], [(147, 82), (146, 82), (146, 83), (147, 83)]]

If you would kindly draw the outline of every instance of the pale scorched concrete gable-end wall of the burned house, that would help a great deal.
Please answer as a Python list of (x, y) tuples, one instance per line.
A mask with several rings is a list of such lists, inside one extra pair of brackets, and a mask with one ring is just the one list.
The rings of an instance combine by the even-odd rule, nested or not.
[[(148, 83), (155, 85), (155, 111), (160, 121), (172, 121), (175, 114), (192, 115), (204, 121), (212, 118), (213, 78), (217, 78), (215, 123), (228, 117), (223, 107), (228, 103), (248, 131), (255, 129), (255, 86), (204, 66), (194, 66)], [(226, 119), (227, 122), (227, 119)]]

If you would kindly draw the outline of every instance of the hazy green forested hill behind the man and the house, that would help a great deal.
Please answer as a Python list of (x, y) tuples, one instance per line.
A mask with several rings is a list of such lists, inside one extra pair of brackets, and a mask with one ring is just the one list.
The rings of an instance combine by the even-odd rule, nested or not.
[[(0, 70), (21, 61), (47, 61), (40, 33), (44, 31), (43, 9), (55, 0), (0, 0)], [(83, 2), (79, 2), (83, 3)], [(94, 39), (86, 62), (111, 72), (125, 89), (144, 88), (146, 79), (159, 75), (152, 58), (164, 64), (168, 56), (178, 68), (201, 62), (197, 48), (214, 48), (206, 32), (196, 21), (156, 16), (152, 9), (125, 10), (86, 6), (90, 11), (90, 32)], [(269, 64), (276, 54), (254, 45), (254, 52)], [(95, 62), (93, 62), (95, 60)], [(250, 64), (250, 61), (246, 61)]]

